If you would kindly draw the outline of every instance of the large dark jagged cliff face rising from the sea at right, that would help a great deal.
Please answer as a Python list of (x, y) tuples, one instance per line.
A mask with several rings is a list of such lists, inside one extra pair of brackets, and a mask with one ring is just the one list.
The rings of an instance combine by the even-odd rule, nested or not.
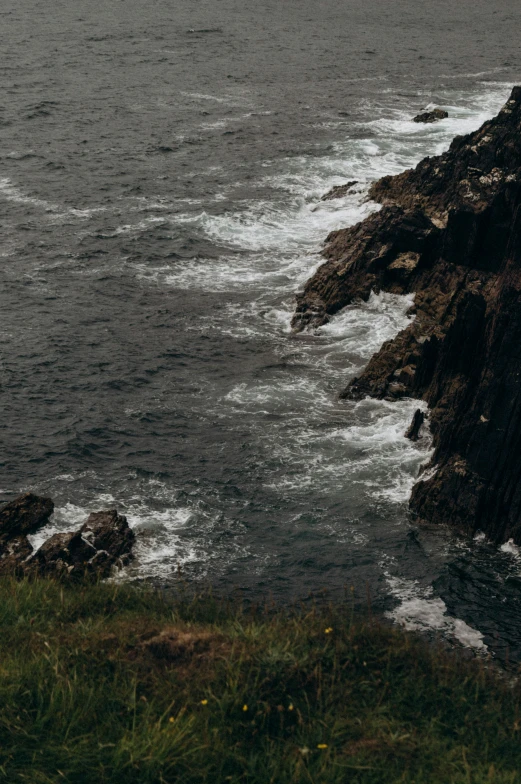
[(371, 291), (415, 292), (414, 322), (344, 397), (422, 398), (434, 475), (411, 509), (521, 542), (521, 87), (448, 152), (374, 183), (380, 212), (327, 238), (296, 330)]

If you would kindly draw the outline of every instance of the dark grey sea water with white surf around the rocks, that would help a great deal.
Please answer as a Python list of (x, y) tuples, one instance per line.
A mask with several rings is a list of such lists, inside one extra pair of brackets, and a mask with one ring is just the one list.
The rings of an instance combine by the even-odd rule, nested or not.
[(514, 0), (4, 0), (0, 499), (55, 499), (36, 543), (117, 506), (124, 579), (353, 586), (521, 658), (517, 549), (408, 520), (417, 402), (338, 400), (412, 300), (289, 329), (371, 180), (500, 108), (520, 29)]

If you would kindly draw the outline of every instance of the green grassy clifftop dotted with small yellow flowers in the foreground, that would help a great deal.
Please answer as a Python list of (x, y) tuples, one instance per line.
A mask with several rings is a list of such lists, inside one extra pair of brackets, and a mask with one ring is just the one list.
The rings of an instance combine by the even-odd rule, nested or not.
[[(170, 659), (146, 645), (164, 627), (184, 634)], [(0, 581), (13, 784), (521, 782), (520, 696), (486, 663), (345, 607)]]

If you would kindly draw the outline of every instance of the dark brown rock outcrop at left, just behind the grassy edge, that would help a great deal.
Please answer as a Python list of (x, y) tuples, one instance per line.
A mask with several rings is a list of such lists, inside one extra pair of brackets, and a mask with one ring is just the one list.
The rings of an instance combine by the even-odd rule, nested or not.
[(0, 510), (0, 574), (107, 577), (131, 559), (135, 535), (116, 510), (93, 512), (78, 531), (54, 534), (34, 552), (26, 533), (45, 525), (53, 510), (50, 498), (32, 493)]

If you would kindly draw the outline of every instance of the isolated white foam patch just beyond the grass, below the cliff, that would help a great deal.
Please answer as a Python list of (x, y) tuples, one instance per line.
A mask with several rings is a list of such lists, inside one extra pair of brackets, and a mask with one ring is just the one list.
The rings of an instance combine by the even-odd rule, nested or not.
[(460, 618), (449, 615), (447, 605), (434, 596), (431, 586), (421, 588), (415, 580), (405, 580), (388, 573), (385, 577), (391, 594), (400, 600), (398, 607), (386, 613), (387, 617), (409, 631), (442, 632), (466, 648), (479, 653), (488, 650), (482, 633)]

